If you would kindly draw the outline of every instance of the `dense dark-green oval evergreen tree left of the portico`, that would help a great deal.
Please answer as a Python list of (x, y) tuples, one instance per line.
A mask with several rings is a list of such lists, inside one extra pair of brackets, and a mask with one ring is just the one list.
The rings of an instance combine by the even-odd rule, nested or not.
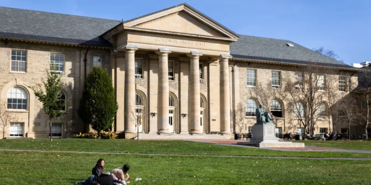
[(107, 131), (118, 110), (112, 79), (105, 69), (94, 67), (85, 82), (78, 111), (80, 118), (97, 132)]

